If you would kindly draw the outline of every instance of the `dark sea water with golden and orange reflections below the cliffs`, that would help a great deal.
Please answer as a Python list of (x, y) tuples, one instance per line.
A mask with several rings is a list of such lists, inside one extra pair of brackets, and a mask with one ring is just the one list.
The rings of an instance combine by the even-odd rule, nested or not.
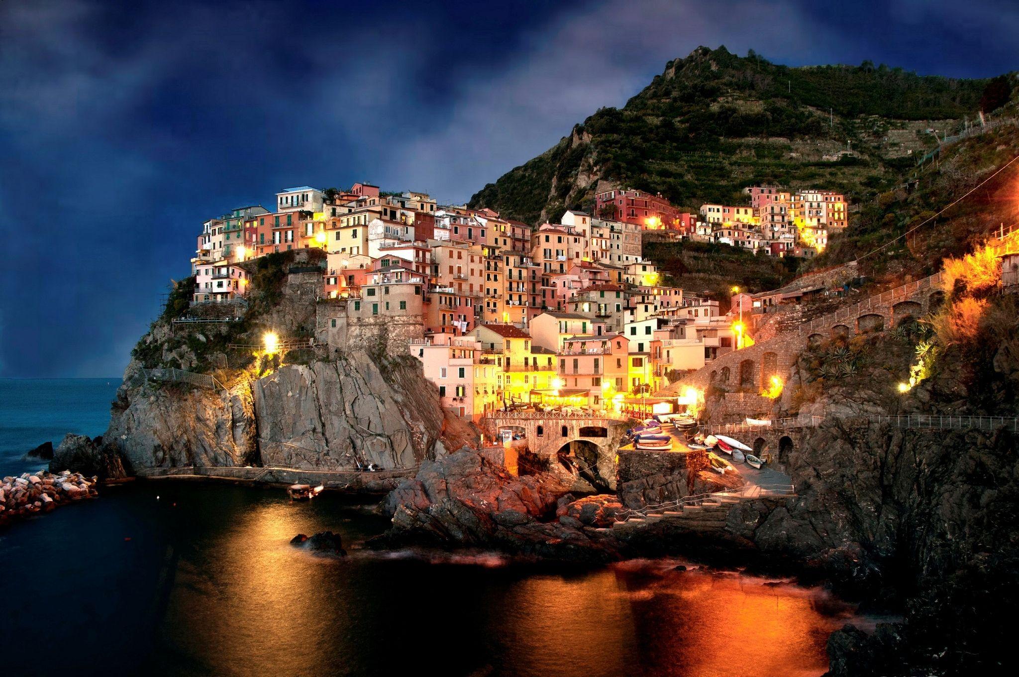
[[(99, 398), (103, 383), (77, 387)], [(105, 408), (90, 421), (53, 404), (92, 399), (79, 396), (36, 393), (54, 410), (33, 415), (29, 446), (62, 421), (101, 432)], [(10, 405), (0, 400), (5, 440), (25, 416), (23, 402)], [(281, 489), (225, 484), (107, 487), (0, 531), (0, 656), (52, 655), (22, 674), (61, 675), (68, 664), (75, 674), (819, 675), (826, 637), (849, 615), (815, 590), (676, 562), (567, 571), (360, 548), (385, 526), (328, 493), (291, 504)], [(287, 542), (322, 529), (340, 532), (351, 556)]]

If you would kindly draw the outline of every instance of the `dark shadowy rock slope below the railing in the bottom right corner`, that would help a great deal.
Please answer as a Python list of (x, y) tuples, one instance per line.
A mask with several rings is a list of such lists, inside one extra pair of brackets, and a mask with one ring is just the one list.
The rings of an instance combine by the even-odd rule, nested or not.
[(833, 421), (790, 454), (787, 468), (797, 498), (742, 504), (729, 530), (843, 590), (907, 609), (904, 625), (833, 635), (833, 675), (994, 666), (1019, 601), (1011, 433)]

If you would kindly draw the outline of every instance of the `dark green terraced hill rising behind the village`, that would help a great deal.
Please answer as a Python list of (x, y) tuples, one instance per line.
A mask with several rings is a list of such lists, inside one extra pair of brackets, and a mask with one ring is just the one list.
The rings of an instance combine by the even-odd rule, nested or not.
[(740, 190), (760, 183), (870, 200), (936, 147), (928, 129), (951, 135), (975, 118), (987, 83), (869, 62), (789, 67), (700, 47), (469, 204), (535, 223), (591, 207), (596, 190), (612, 187), (660, 192), (690, 209), (742, 202)]

